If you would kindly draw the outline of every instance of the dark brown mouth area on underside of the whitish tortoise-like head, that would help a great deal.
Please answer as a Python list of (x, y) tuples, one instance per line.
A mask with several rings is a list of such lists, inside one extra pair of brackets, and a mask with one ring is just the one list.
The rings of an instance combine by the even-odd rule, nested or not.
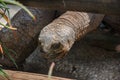
[(68, 50), (64, 48), (61, 43), (55, 43), (51, 46), (49, 51), (44, 51), (42, 46), (40, 47), (40, 51), (43, 53), (43, 57), (48, 60), (58, 60), (66, 56)]

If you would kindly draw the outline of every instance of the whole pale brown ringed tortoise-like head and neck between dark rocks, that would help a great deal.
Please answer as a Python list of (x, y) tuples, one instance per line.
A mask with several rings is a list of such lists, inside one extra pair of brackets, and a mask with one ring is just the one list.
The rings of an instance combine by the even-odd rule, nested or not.
[(74, 42), (100, 24), (104, 15), (67, 11), (41, 30), (39, 45), (48, 59), (66, 55)]

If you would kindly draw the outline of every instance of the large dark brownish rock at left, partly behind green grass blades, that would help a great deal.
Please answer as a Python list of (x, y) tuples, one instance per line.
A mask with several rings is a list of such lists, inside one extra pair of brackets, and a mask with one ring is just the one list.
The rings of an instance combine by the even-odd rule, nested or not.
[[(29, 8), (35, 15), (34, 21), (24, 10), (20, 10), (11, 20), (13, 27), (17, 31), (6, 28), (0, 31), (0, 40), (10, 49), (17, 53), (17, 56), (10, 53), (18, 65), (28, 57), (38, 44), (40, 30), (54, 19), (55, 11)], [(4, 60), (0, 56), (0, 64), (4, 66), (14, 66), (12, 61), (5, 56)]]

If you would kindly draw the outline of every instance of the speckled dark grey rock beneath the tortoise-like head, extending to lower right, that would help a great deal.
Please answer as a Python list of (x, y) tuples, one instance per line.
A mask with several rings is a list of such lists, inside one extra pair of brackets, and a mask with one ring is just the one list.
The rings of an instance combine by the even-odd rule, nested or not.
[[(100, 36), (98, 40), (101, 42), (102, 40), (109, 41), (110, 34), (102, 35), (104, 34), (92, 32), (80, 41), (77, 41), (66, 57), (56, 61), (53, 75), (77, 80), (119, 80), (120, 53), (90, 44), (92, 40), (95, 40), (96, 37), (94, 36)], [(113, 40), (116, 40), (116, 38)], [(118, 40), (116, 41), (120, 42)], [(40, 52), (38, 47), (26, 59), (24, 70), (47, 74), (50, 63), (49, 60), (43, 57), (43, 53)]]

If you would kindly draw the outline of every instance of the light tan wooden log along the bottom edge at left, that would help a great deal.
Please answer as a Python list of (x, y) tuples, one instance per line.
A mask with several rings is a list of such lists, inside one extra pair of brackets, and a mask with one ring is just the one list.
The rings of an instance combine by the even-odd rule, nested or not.
[[(11, 71), (5, 70), (5, 72), (9, 75), (12, 80), (49, 80), (47, 75), (22, 72), (22, 71)], [(0, 80), (7, 80), (5, 78), (0, 77)], [(51, 80), (73, 80), (61, 77), (51, 77)]]

